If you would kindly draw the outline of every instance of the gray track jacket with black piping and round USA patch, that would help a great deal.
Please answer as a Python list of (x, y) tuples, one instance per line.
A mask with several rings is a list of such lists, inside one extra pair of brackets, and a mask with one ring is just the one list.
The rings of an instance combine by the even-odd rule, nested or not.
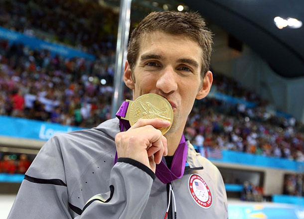
[[(135, 160), (120, 158), (114, 165), (118, 132), (115, 118), (48, 140), (26, 172), (8, 219), (163, 219), (168, 186)], [(220, 172), (187, 145), (188, 166), (171, 183), (177, 219), (227, 219)]]

